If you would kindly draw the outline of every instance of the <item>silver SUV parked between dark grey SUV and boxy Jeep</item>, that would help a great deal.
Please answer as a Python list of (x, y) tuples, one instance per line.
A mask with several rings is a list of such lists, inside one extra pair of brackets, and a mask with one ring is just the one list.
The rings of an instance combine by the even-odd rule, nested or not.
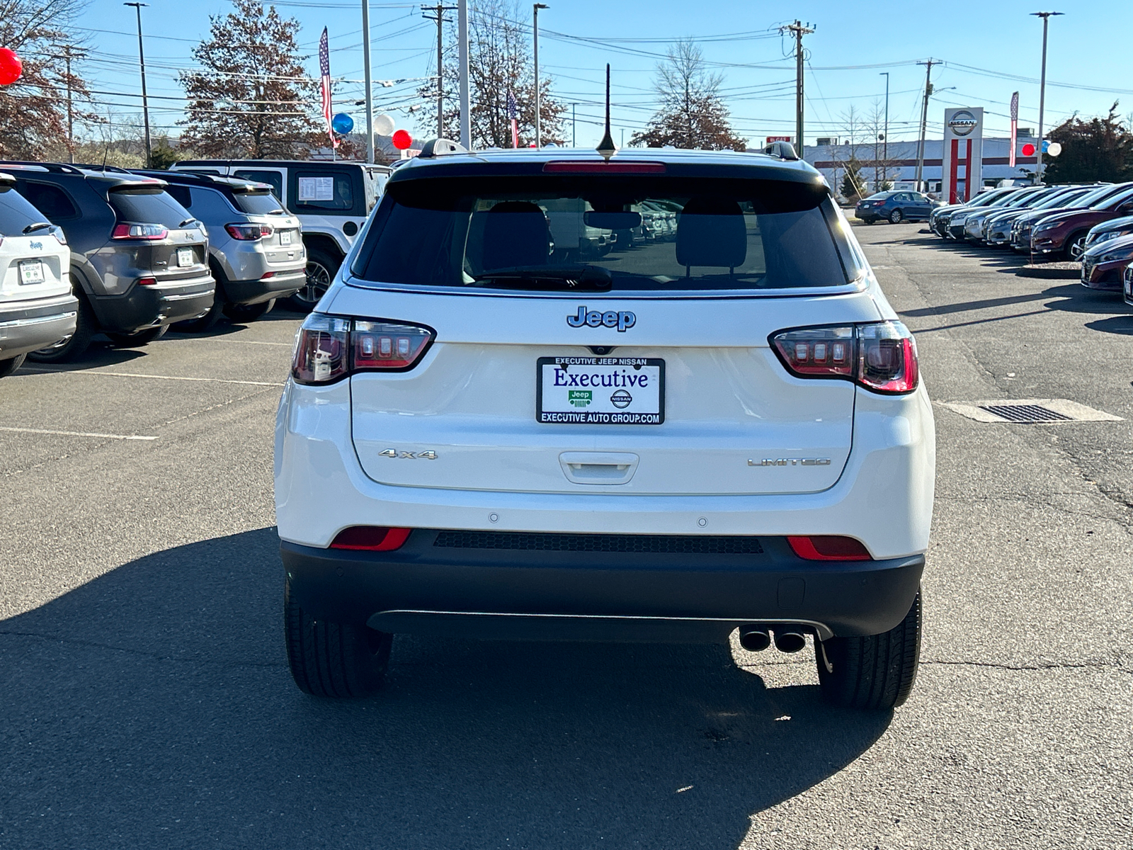
[(305, 286), (303, 228), (270, 185), (176, 171), (134, 173), (164, 180), (165, 192), (208, 229), (208, 269), (216, 279), (216, 295), (212, 309), (181, 323), (184, 330), (208, 330), (221, 315), (252, 322), (276, 298), (288, 298)]

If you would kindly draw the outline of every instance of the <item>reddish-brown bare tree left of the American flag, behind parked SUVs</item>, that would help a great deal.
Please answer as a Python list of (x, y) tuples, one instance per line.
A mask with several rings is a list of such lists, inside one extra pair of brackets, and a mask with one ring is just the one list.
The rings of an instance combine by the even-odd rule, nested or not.
[(329, 138), (314, 119), (318, 88), (296, 42), (299, 22), (257, 0), (232, 5), (208, 17), (208, 39), (193, 49), (201, 69), (181, 71), (181, 138), (205, 156), (306, 159)]

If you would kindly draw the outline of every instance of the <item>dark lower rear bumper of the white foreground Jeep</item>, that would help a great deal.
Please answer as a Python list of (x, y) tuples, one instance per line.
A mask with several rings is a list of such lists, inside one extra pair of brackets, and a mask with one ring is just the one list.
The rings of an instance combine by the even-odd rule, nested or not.
[(726, 641), (738, 626), (789, 622), (827, 639), (892, 629), (925, 568), (923, 555), (804, 561), (783, 537), (760, 537), (755, 554), (658, 554), (452, 547), (437, 536), (416, 529), (395, 552), (283, 542), (291, 598), (315, 619), (391, 632)]

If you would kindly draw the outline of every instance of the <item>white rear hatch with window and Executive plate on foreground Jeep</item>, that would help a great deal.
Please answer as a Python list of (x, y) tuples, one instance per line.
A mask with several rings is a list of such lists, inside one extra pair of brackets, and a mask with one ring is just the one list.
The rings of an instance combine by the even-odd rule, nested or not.
[[(329, 312), (424, 325), (436, 341), (411, 368), (350, 379), (374, 481), (624, 494), (837, 481), (854, 385), (792, 376), (768, 342), (879, 318), (825, 186), (392, 179), (386, 194)], [(579, 230), (682, 211), (671, 241), (581, 263), (554, 243), (568, 197), (583, 202)], [(397, 350), (398, 329), (375, 328), (375, 346), (384, 334)]]

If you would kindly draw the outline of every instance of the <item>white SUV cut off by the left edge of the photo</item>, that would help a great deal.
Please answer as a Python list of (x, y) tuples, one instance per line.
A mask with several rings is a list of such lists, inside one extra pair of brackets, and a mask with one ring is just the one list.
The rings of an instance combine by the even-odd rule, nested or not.
[(0, 172), (0, 377), (37, 351), (75, 333), (70, 250), (63, 231)]

